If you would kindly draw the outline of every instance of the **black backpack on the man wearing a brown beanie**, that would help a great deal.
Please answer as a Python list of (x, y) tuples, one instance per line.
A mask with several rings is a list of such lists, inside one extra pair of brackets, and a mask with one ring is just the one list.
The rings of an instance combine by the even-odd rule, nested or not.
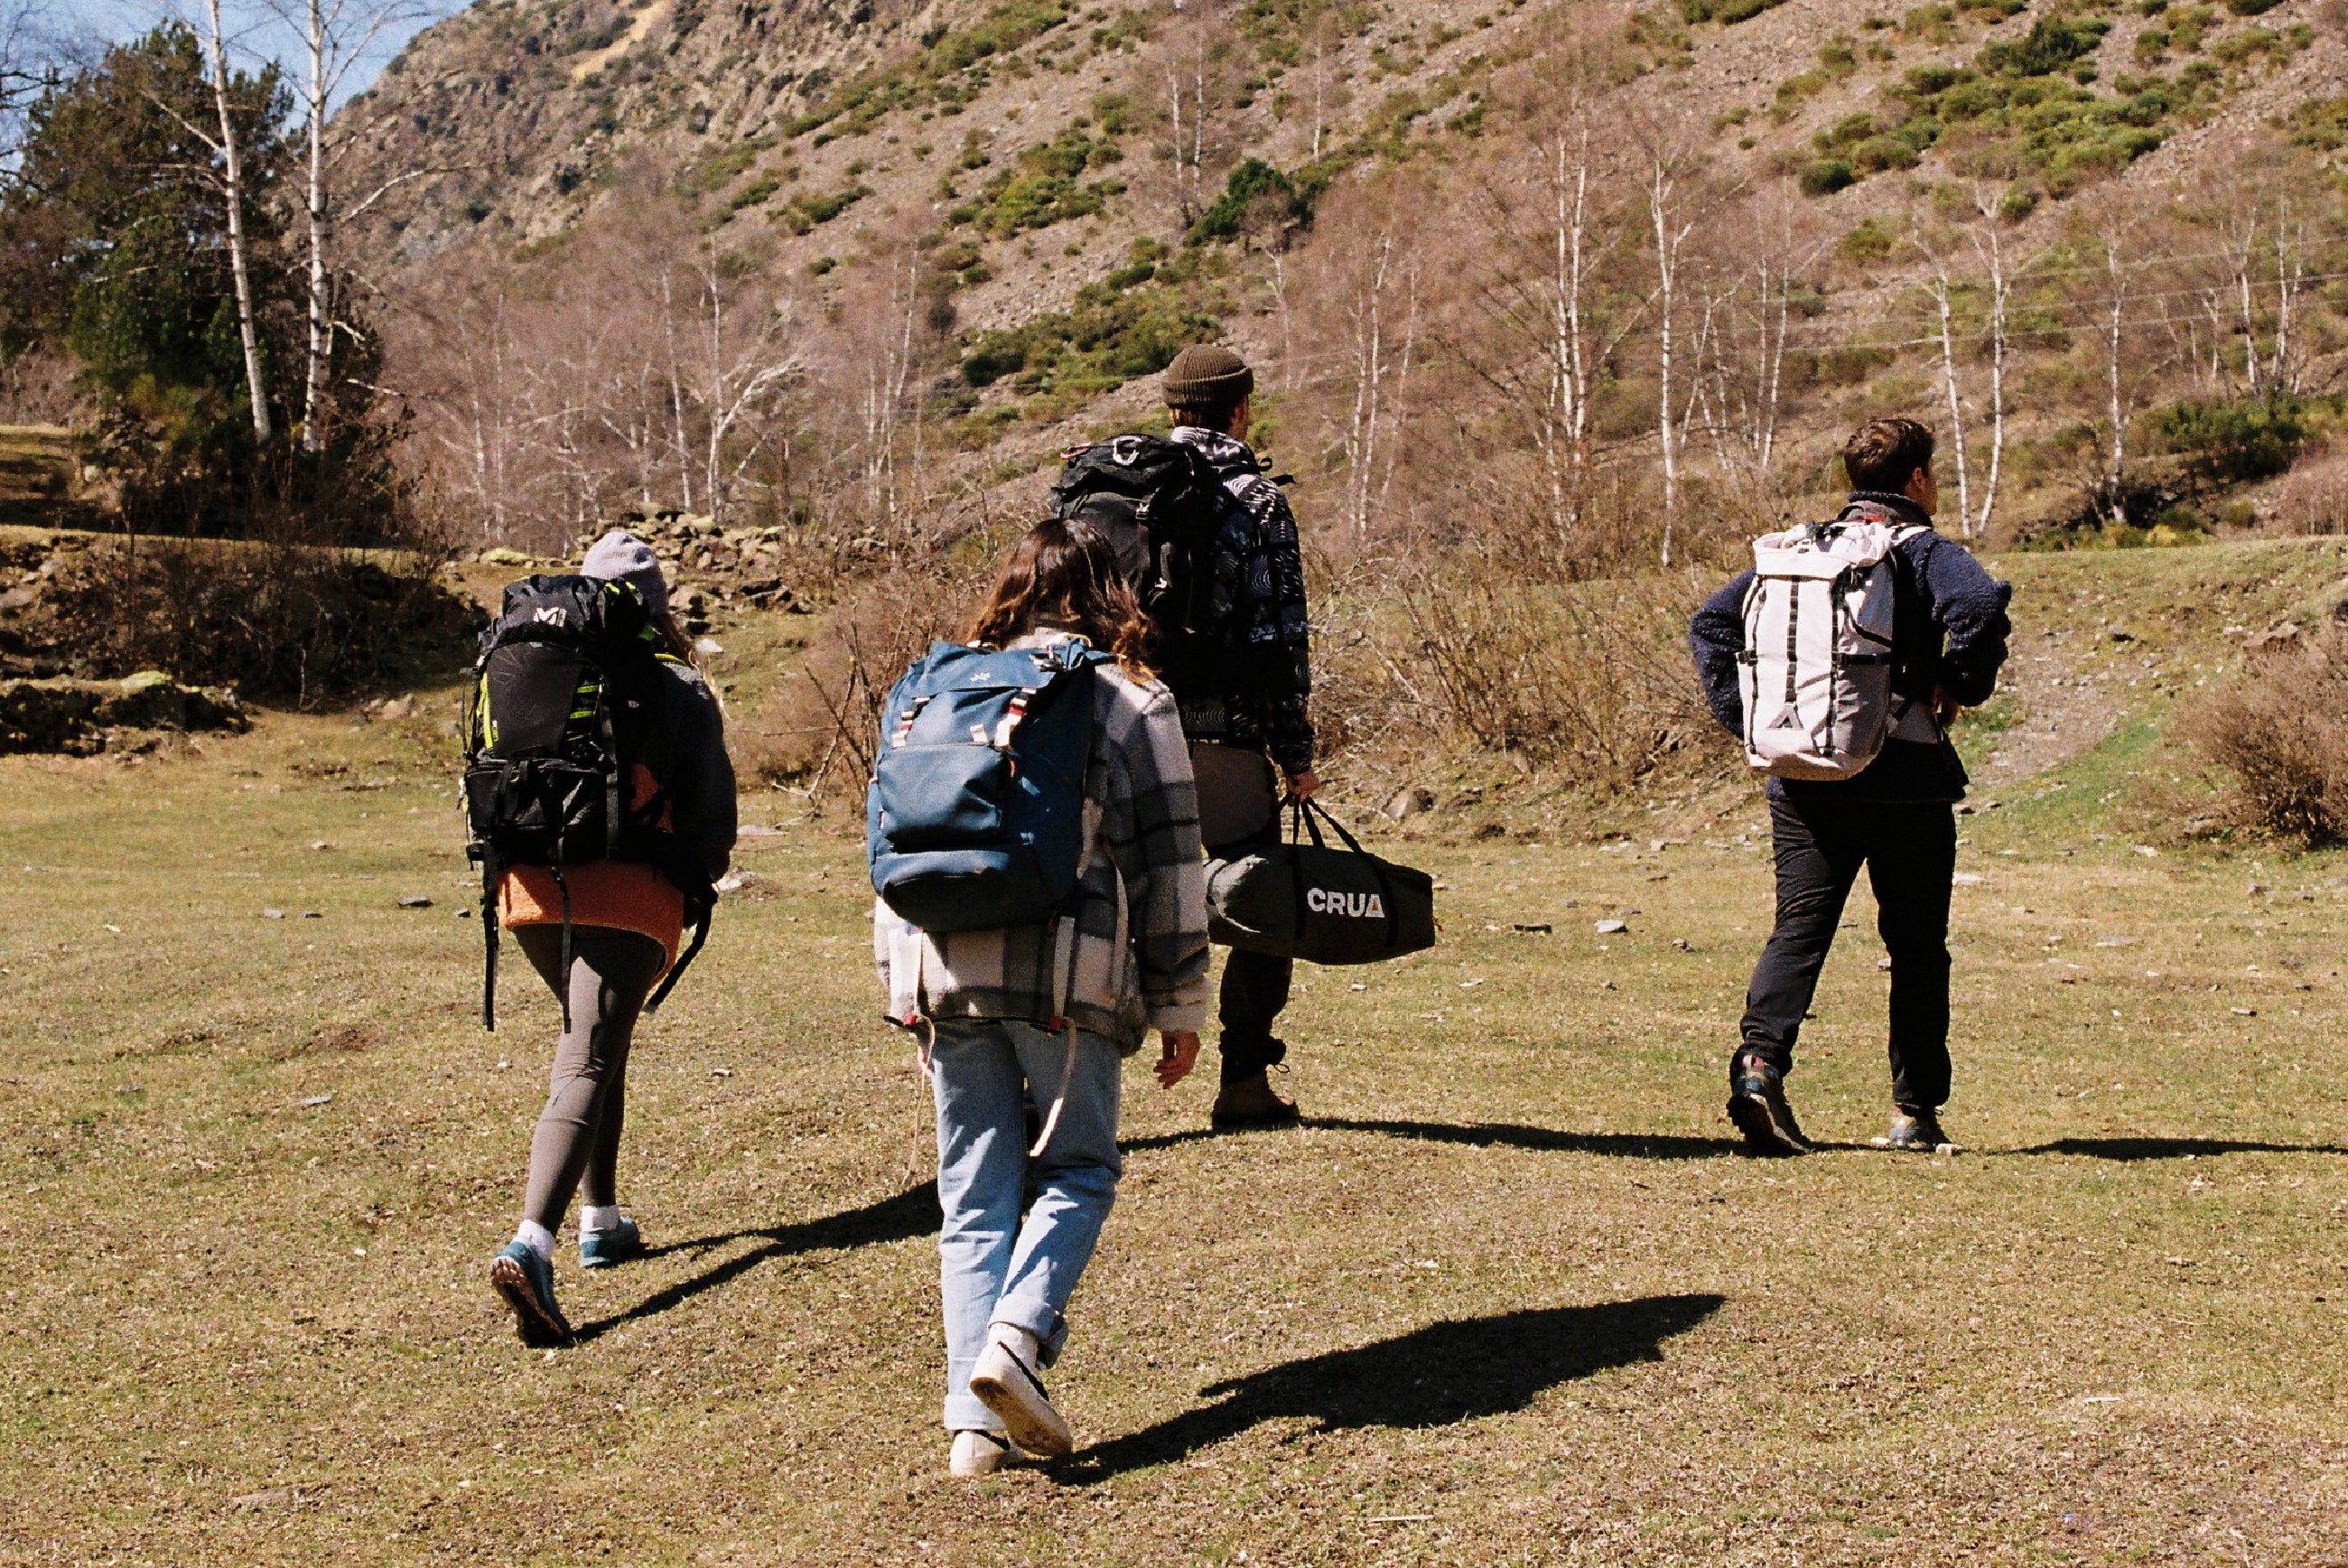
[(1052, 516), (1101, 530), (1151, 620), (1151, 655), (1169, 685), (1212, 681), (1214, 535), (1237, 505), (1205, 453), (1165, 437), (1113, 437), (1066, 455)]

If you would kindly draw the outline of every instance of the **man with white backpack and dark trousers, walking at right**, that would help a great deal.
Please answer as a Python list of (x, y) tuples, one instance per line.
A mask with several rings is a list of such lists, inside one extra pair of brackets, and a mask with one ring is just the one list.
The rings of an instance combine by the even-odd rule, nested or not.
[(1777, 922), (1728, 1063), (1728, 1115), (1768, 1155), (1810, 1148), (1784, 1075), (1860, 866), (1890, 953), (1895, 1115), (1876, 1143), (1946, 1143), (1949, 892), (1965, 796), (1946, 725), (1996, 690), (2012, 631), (2012, 584), (1932, 530), (1928, 427), (1869, 420), (1843, 446), (1843, 512), (1759, 540), (1754, 570), (1691, 627), (1712, 714), (1770, 772)]

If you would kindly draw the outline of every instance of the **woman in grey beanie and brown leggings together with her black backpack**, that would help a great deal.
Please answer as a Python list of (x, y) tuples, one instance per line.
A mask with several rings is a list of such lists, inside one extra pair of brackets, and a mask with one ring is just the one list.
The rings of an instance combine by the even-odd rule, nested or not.
[[(601, 730), (615, 798), (625, 789), (629, 800), (618, 854), (566, 866), (556, 852), (554, 864), (488, 869), (495, 920), (564, 1007), (547, 1106), (531, 1134), (521, 1225), (491, 1261), (488, 1282), (514, 1310), (524, 1343), (559, 1345), (571, 1324), (554, 1303), (554, 1232), (571, 1195), (585, 1199), (580, 1268), (613, 1268), (643, 1251), (618, 1188), (627, 1049), (646, 1000), (657, 1005), (653, 986), (664, 974), (674, 981), (686, 925), (700, 920), (707, 932), (711, 883), (726, 876), (735, 845), (735, 775), (718, 699), (693, 667), (660, 561), (639, 538), (606, 533), (580, 577), (507, 589), (491, 641), (500, 636), (519, 657), (484, 657), (486, 749), (526, 753), (533, 709), (545, 718), (538, 749), (559, 758)], [(610, 723), (596, 725), (596, 716)], [(526, 789), (507, 784), (505, 796)], [(467, 779), (470, 807), (472, 796)], [(481, 822), (488, 810), (474, 810), (477, 833), (495, 843), (498, 829)], [(495, 927), (488, 941), (495, 955)]]

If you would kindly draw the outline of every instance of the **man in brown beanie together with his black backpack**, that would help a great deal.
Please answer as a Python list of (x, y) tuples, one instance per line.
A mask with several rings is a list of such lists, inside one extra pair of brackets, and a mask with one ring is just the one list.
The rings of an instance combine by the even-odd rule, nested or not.
[[(1247, 446), (1254, 390), (1254, 371), (1228, 347), (1186, 347), (1162, 387), (1172, 437), (1071, 453), (1052, 491), (1057, 516), (1108, 535), (1151, 620), (1214, 859), (1275, 847), (1282, 798), (1320, 789), (1303, 552), (1287, 495)], [(1223, 1068), (1209, 1117), (1219, 1129), (1298, 1120), (1270, 1082), (1289, 1054), (1273, 1026), (1291, 974), (1294, 960), (1240, 948), (1223, 965)]]

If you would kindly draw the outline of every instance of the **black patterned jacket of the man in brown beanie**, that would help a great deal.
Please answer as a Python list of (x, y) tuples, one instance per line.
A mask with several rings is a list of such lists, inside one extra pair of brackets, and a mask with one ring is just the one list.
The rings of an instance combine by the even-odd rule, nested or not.
[(1176, 427), (1233, 498), (1214, 542), (1209, 617), (1223, 676), (1219, 690), (1174, 690), (1190, 739), (1263, 746), (1282, 772), (1313, 768), (1313, 629), (1296, 514), (1263, 462), (1219, 430)]

